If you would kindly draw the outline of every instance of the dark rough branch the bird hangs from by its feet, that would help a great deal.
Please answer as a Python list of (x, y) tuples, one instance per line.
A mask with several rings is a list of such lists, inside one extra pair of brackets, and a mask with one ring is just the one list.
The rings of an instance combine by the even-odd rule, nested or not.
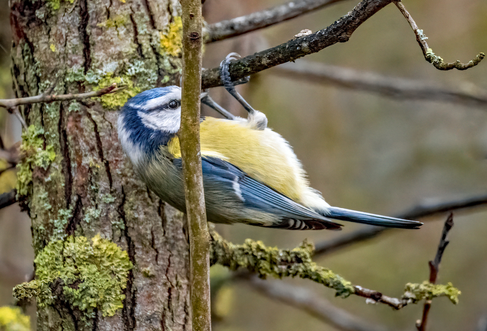
[[(278, 64), (316, 53), (337, 42), (348, 41), (360, 24), (391, 2), (392, 0), (362, 0), (345, 16), (323, 30), (237, 60), (230, 65), (230, 78), (232, 81), (244, 78)], [(222, 86), (220, 68), (206, 69), (202, 76), (203, 89)]]

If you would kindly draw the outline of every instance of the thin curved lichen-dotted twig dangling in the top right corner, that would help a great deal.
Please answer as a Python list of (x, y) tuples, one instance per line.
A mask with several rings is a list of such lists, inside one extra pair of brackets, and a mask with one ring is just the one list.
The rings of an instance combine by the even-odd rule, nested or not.
[(462, 63), (459, 60), (456, 60), (453, 63), (447, 63), (443, 61), (443, 58), (440, 58), (439, 56), (435, 55), (433, 53), (433, 50), (428, 46), (428, 43), (426, 42), (426, 37), (423, 34), (423, 30), (420, 30), (416, 23), (414, 22), (414, 19), (412, 19), (411, 14), (406, 10), (404, 5), (402, 4), (401, 0), (393, 0), (394, 4), (399, 8), (401, 11), (402, 15), (408, 20), (409, 25), (411, 25), (412, 31), (414, 31), (414, 34), (416, 35), (416, 40), (419, 43), (419, 46), (421, 47), (421, 50), (423, 51), (423, 54), (425, 56), (425, 59), (432, 63), (434, 67), (438, 70), (451, 70), (451, 69), (458, 69), (458, 70), (466, 70), (468, 68), (471, 68), (485, 58), (484, 53), (479, 53), (473, 60), (469, 61), (468, 63)]

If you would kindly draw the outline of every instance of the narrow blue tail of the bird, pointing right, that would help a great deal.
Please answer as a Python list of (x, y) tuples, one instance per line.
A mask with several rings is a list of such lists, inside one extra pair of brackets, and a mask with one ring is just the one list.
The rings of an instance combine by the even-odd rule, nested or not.
[(418, 221), (357, 212), (355, 210), (338, 207), (330, 207), (329, 213), (324, 216), (343, 221), (380, 225), (389, 228), (418, 229), (421, 225), (423, 225), (423, 223)]

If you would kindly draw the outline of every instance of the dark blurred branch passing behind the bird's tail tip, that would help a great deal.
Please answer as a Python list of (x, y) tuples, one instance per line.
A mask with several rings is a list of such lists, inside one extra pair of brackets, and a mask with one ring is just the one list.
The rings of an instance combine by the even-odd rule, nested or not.
[[(413, 207), (411, 210), (405, 213), (398, 214), (396, 217), (414, 220), (420, 217), (442, 214), (452, 210), (471, 208), (471, 207), (480, 206), (484, 204), (487, 204), (487, 194), (477, 195), (462, 200), (442, 202), (442, 203), (437, 203), (432, 205), (419, 205)], [(344, 246), (354, 244), (363, 240), (368, 240), (382, 233), (387, 229), (389, 228), (376, 227), (370, 225), (364, 226), (361, 229), (356, 230), (352, 233), (344, 234), (338, 236), (337, 238), (333, 238), (330, 240), (317, 243), (315, 245), (316, 247), (315, 255), (330, 253)]]

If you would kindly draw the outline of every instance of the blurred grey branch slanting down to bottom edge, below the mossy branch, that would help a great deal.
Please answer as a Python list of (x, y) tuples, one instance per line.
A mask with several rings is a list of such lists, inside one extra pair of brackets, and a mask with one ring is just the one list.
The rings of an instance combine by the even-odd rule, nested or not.
[(372, 325), (361, 318), (332, 305), (331, 302), (306, 288), (282, 281), (262, 280), (249, 273), (245, 279), (259, 293), (296, 307), (343, 331), (385, 331), (382, 325)]

